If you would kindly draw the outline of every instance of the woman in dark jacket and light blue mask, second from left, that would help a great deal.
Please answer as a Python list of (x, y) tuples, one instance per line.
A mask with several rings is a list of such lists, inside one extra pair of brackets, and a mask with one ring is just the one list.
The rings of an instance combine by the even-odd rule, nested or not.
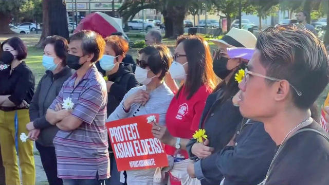
[(57, 160), (53, 137), (58, 132), (57, 126), (46, 121), (46, 112), (57, 97), (63, 83), (72, 75), (66, 66), (68, 43), (61, 36), (49, 36), (43, 43), (44, 55), (42, 64), (46, 69), (30, 104), (30, 120), (26, 125), (29, 138), (36, 140), (35, 146), (40, 153), (41, 162), (49, 184), (63, 184), (57, 177)]

